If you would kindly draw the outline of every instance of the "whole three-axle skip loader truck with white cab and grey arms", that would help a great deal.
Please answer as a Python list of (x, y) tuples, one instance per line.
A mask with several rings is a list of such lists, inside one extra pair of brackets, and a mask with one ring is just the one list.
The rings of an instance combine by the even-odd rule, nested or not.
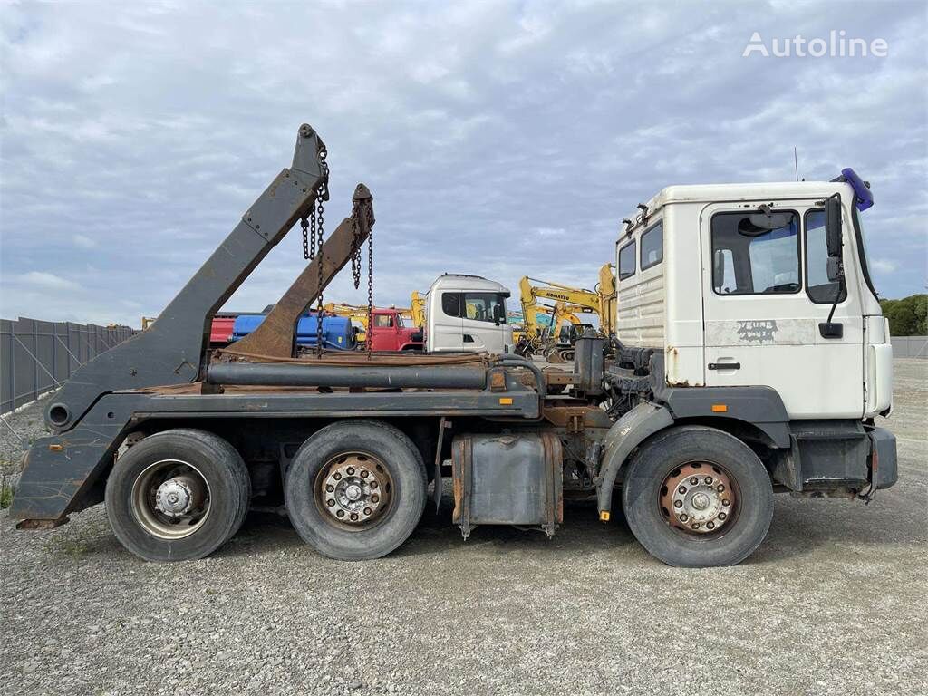
[[(32, 445), (11, 509), (20, 528), (104, 501), (126, 548), (182, 561), (271, 508), (320, 553), (374, 559), (450, 477), (465, 538), (484, 524), (554, 535), (565, 498), (589, 497), (602, 522), (621, 507), (661, 561), (719, 566), (762, 543), (776, 492), (870, 500), (896, 482), (896, 440), (874, 425), (893, 375), (861, 220), (873, 198), (852, 170), (640, 204), (616, 243), (615, 333), (580, 338), (555, 374), (511, 353), (298, 346), (298, 318), (342, 266), (358, 284), (367, 255), (373, 292), (372, 195), (358, 185), (324, 238), (326, 154), (303, 125), (290, 168), (158, 321), (49, 399), (53, 434)], [(310, 263), (260, 327), (210, 349), (217, 310), (308, 220)]]

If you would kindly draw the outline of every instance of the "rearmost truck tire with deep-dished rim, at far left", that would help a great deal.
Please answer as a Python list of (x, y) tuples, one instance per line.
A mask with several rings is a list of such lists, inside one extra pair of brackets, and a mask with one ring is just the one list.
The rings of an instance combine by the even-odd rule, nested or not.
[(241, 527), (251, 478), (212, 432), (159, 432), (131, 446), (107, 480), (106, 509), (122, 546), (146, 561), (209, 556)]

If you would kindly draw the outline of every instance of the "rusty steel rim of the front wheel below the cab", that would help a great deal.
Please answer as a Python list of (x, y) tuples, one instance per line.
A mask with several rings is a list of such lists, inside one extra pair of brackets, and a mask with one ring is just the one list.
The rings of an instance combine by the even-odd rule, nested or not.
[(711, 538), (734, 526), (741, 510), (737, 480), (719, 464), (690, 461), (671, 470), (658, 492), (658, 507), (678, 534)]

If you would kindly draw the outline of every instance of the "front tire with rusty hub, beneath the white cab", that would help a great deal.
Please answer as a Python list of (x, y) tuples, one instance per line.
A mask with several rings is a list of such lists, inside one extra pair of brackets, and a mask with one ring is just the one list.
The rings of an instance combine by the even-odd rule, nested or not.
[(740, 563), (773, 517), (773, 487), (754, 451), (702, 426), (673, 428), (643, 445), (628, 465), (622, 501), (641, 546), (685, 568)]

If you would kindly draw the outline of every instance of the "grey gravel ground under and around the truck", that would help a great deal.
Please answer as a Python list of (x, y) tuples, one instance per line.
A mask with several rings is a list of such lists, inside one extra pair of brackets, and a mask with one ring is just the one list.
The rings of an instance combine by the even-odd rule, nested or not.
[[(41, 406), (8, 424), (41, 431)], [(31, 421), (31, 422), (30, 422)], [(135, 559), (101, 506), (0, 515), (0, 684), (29, 694), (928, 692), (928, 362), (896, 361), (900, 481), (874, 503), (778, 496), (735, 568), (677, 570), (621, 523), (483, 527), (447, 499), (397, 552), (342, 563), (252, 516), (211, 559)], [(19, 460), (6, 428), (8, 470)]]

